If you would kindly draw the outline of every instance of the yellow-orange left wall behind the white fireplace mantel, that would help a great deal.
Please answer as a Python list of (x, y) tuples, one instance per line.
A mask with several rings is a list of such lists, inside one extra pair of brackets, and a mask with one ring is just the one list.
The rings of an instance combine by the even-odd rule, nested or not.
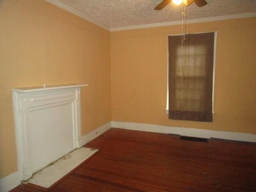
[(110, 32), (43, 0), (0, 1), (0, 178), (17, 170), (12, 88), (88, 83), (82, 134), (111, 120)]

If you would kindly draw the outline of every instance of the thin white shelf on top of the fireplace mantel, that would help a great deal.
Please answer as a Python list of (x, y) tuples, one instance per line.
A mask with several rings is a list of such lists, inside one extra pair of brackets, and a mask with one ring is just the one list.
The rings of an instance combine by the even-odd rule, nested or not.
[(44, 87), (44, 86), (20, 87), (20, 88), (13, 88), (12, 91), (17, 92), (17, 93), (28, 93), (28, 92), (65, 89), (65, 88), (76, 88), (76, 87), (84, 87), (84, 86), (88, 86), (88, 84), (50, 85), (50, 86), (46, 86), (46, 87)]

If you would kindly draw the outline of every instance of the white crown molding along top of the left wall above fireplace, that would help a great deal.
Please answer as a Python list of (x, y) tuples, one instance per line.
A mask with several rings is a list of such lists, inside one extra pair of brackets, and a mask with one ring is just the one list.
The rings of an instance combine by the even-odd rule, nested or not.
[(66, 10), (66, 11), (68, 11), (68, 12), (70, 12), (70, 13), (78, 16), (78, 17), (81, 17), (81, 18), (83, 18), (83, 19), (101, 27), (101, 28), (104, 28), (104, 29), (110, 31), (110, 26), (107, 26), (106, 24), (104, 24), (103, 22), (100, 22), (99, 20), (91, 18), (88, 15), (86, 15), (86, 14), (84, 14), (84, 13), (82, 13), (82, 12), (80, 12), (80, 11), (70, 7), (70, 6), (67, 6), (66, 4), (64, 4), (64, 3), (62, 3), (58, 0), (45, 0), (45, 1), (47, 1), (51, 4), (54, 4), (55, 6), (60, 7), (60, 8)]

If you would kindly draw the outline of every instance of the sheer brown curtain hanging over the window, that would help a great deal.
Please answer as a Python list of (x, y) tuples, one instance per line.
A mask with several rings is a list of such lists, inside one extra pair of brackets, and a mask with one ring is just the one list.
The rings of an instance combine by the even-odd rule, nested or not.
[[(168, 36), (169, 119), (212, 122), (214, 32)], [(181, 75), (182, 73), (182, 75)]]

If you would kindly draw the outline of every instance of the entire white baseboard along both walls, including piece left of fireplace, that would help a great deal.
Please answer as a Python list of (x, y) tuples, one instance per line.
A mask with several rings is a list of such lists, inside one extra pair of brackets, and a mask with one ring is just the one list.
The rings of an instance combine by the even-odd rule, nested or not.
[[(123, 129), (129, 129), (129, 130), (165, 133), (165, 134), (171, 133), (171, 134), (179, 134), (183, 136), (194, 136), (194, 137), (201, 137), (201, 138), (220, 138), (220, 139), (227, 139), (227, 140), (256, 142), (256, 134), (112, 121), (82, 136), (81, 144), (84, 145), (90, 142), (97, 136), (109, 130), (111, 127), (123, 128)], [(15, 188), (16, 186), (18, 186), (21, 183), (20, 178), (21, 178), (20, 172), (16, 171), (0, 179), (0, 192), (8, 192), (13, 188)]]

